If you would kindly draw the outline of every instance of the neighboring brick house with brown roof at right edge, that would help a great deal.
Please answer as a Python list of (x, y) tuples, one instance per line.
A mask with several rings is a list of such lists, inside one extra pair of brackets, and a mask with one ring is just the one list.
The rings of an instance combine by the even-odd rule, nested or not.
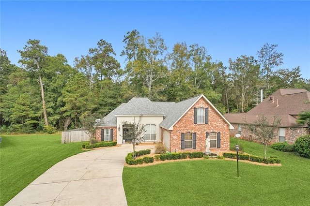
[(247, 113), (230, 113), (225, 114), (234, 126), (231, 130), (231, 136), (236, 133), (241, 134), (241, 137), (247, 140), (254, 140), (255, 136), (250, 133), (245, 124), (253, 123), (259, 115), (265, 116), (270, 125), (272, 125), (274, 117), (281, 119), (277, 129), (277, 138), (275, 142), (288, 142), (294, 144), (296, 138), (307, 134), (307, 125), (296, 123), (298, 114), (310, 110), (310, 92), (306, 89), (284, 89), (280, 88), (275, 93), (270, 95), (263, 102), (249, 110)]

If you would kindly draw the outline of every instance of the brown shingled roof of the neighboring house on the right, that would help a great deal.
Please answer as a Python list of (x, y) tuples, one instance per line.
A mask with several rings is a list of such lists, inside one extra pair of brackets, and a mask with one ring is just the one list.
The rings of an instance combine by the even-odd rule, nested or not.
[(310, 110), (309, 102), (310, 92), (306, 89), (280, 88), (247, 113), (231, 113), (224, 116), (232, 123), (245, 124), (246, 122), (253, 123), (258, 115), (263, 115), (267, 117), (270, 125), (274, 116), (278, 116), (281, 119), (280, 126), (301, 127), (303, 125), (296, 123), (296, 116), (303, 111)]

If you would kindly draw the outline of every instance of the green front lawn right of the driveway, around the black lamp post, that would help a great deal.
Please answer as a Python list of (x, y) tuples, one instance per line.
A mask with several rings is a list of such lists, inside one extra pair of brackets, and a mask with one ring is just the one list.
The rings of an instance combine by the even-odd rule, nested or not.
[[(236, 144), (231, 138), (231, 145)], [(263, 157), (263, 146), (238, 140), (245, 152)], [(129, 206), (275, 206), (310, 205), (310, 159), (268, 147), (282, 166), (269, 167), (225, 160), (167, 162), (124, 167)]]

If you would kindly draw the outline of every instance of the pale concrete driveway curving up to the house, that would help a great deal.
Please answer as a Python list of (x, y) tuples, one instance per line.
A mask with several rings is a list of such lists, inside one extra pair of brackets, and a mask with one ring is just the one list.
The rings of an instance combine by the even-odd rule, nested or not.
[[(154, 145), (138, 145), (136, 150)], [(125, 156), (131, 144), (83, 152), (58, 162), (5, 206), (126, 206)]]

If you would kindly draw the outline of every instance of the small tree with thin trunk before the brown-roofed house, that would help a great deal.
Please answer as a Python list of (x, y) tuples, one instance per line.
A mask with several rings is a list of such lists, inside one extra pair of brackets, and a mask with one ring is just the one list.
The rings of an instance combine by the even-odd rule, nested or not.
[(253, 124), (247, 124), (247, 129), (255, 135), (255, 139), (262, 143), (264, 150), (264, 159), (267, 159), (267, 145), (271, 142), (273, 138), (276, 137), (276, 129), (280, 123), (281, 119), (274, 116), (273, 123), (270, 124), (268, 119), (260, 115), (253, 122)]

